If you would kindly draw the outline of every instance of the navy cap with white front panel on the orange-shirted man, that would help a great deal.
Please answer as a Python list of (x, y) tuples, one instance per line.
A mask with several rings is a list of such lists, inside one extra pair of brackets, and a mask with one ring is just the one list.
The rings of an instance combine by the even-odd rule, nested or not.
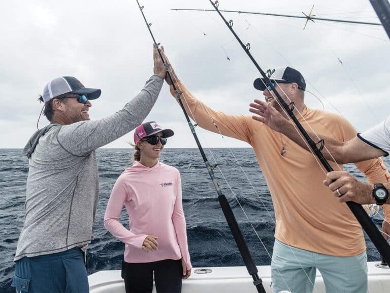
[[(276, 68), (270, 75), (269, 79), (271, 82), (278, 83), (297, 83), (298, 89), (305, 91), (306, 90), (306, 82), (305, 78), (303, 78), (302, 74), (291, 67), (280, 67)], [(264, 78), (256, 78), (253, 81), (253, 86), (256, 90), (264, 91), (266, 89)]]

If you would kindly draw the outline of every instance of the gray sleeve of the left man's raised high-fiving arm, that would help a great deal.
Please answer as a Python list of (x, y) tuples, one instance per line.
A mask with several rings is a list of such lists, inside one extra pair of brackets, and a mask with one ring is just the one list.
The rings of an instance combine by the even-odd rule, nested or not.
[(63, 126), (58, 142), (74, 155), (85, 155), (132, 131), (150, 112), (163, 85), (163, 79), (153, 75), (142, 91), (121, 110), (98, 121), (84, 121)]

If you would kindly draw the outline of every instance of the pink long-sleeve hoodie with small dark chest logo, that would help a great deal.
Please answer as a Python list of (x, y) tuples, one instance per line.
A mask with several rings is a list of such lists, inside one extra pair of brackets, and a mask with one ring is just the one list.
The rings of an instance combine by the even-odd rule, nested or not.
[[(127, 230), (119, 221), (123, 205), (129, 216)], [(158, 162), (149, 168), (140, 162), (124, 170), (112, 189), (104, 226), (125, 244), (124, 261), (152, 262), (183, 258), (192, 268), (181, 198), (179, 171)], [(157, 236), (158, 249), (141, 247), (148, 236)]]

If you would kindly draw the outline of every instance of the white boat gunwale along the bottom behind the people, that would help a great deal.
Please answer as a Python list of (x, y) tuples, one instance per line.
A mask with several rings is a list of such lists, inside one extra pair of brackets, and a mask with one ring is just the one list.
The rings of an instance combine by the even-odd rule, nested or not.
[[(377, 268), (379, 262), (368, 262), (368, 280), (370, 293), (390, 292), (390, 269)], [(196, 274), (196, 269), (210, 269), (209, 274)], [(270, 266), (258, 266), (258, 276), (263, 280), (263, 286), (267, 293), (271, 289)], [(90, 293), (125, 292), (124, 283), (120, 271), (100, 271), (88, 277)], [(153, 288), (155, 292), (155, 288)], [(252, 284), (252, 278), (248, 275), (245, 267), (215, 267), (194, 268), (191, 277), (183, 280), (183, 293), (230, 293), (230, 292), (256, 292)], [(325, 286), (321, 274), (317, 271), (315, 280), (315, 293), (325, 293)]]

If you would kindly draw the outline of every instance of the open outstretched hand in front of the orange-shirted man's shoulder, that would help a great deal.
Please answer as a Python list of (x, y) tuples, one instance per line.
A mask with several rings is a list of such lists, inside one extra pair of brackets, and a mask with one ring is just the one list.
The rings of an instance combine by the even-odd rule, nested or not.
[(254, 103), (250, 103), (249, 112), (257, 114), (252, 116), (253, 120), (263, 122), (269, 128), (281, 132), (289, 121), (283, 117), (283, 115), (276, 110), (271, 102), (264, 102), (261, 100), (254, 100)]

